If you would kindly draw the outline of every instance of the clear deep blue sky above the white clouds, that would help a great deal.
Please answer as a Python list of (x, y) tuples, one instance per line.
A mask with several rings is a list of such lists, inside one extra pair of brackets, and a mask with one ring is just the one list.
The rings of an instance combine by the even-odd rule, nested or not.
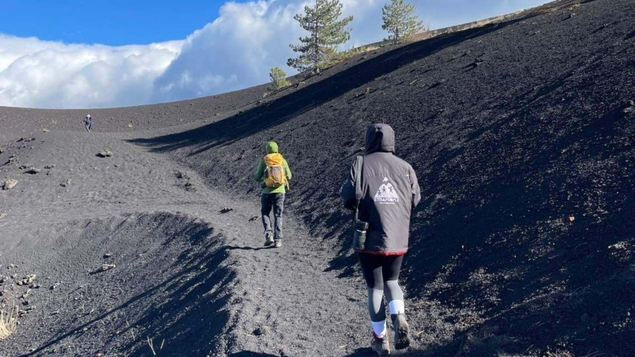
[(0, 32), (112, 46), (184, 39), (218, 17), (218, 0), (3, 0)]

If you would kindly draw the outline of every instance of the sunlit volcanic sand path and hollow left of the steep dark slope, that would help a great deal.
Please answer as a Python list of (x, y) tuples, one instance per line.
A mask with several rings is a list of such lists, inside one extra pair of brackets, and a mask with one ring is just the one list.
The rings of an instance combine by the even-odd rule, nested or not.
[(0, 191), (0, 287), (24, 316), (0, 356), (148, 356), (148, 337), (163, 356), (337, 355), (368, 342), (361, 280), (324, 273), (331, 250), (293, 220), (284, 247), (264, 249), (257, 198), (208, 189), (122, 138), (60, 130), (8, 146), (18, 161), (0, 170), (18, 185)]

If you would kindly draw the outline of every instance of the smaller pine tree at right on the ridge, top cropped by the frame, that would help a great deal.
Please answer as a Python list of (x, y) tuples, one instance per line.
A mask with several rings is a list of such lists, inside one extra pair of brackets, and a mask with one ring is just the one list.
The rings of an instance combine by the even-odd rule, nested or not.
[(390, 4), (385, 4), (382, 8), (382, 20), (382, 29), (389, 33), (387, 40), (394, 43), (407, 41), (414, 34), (426, 30), (415, 14), (415, 6), (404, 3), (404, 0), (391, 0)]

